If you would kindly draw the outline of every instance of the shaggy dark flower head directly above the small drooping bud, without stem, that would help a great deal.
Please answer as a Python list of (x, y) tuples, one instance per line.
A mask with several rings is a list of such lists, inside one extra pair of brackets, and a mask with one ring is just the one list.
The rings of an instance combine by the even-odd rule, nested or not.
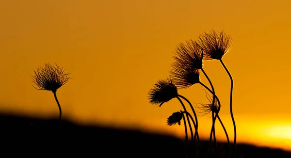
[(159, 79), (148, 92), (149, 102), (152, 104), (159, 104), (160, 107), (163, 103), (177, 96), (178, 89), (169, 78)]

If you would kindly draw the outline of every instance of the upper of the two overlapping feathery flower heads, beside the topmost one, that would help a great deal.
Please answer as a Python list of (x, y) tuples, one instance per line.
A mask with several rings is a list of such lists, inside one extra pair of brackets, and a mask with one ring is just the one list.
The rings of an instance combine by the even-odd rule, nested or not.
[(203, 66), (203, 52), (201, 47), (192, 39), (186, 44), (180, 43), (174, 52), (175, 62), (189, 69), (201, 69)]

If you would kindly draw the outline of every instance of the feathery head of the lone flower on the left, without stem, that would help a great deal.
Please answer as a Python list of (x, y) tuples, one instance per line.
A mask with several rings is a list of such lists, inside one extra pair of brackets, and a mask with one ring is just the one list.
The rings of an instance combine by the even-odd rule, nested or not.
[(32, 82), (38, 87), (33, 87), (37, 90), (52, 91), (55, 93), (57, 89), (62, 87), (68, 79), (69, 74), (65, 73), (65, 69), (57, 64), (51, 65), (45, 63), (44, 67), (39, 67), (37, 70), (33, 70), (35, 75), (32, 76)]

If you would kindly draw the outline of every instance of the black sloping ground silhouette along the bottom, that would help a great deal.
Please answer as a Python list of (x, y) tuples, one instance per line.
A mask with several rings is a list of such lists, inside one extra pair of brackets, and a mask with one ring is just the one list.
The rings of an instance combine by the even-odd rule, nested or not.
[[(139, 130), (79, 126), (63, 120), (0, 115), (0, 155), (8, 157), (184, 158), (180, 139)], [(202, 142), (207, 146), (209, 142)], [(227, 144), (219, 144), (227, 150)], [(207, 150), (207, 149), (206, 149)], [(207, 151), (205, 151), (207, 152)], [(291, 158), (291, 152), (237, 145), (243, 158)]]

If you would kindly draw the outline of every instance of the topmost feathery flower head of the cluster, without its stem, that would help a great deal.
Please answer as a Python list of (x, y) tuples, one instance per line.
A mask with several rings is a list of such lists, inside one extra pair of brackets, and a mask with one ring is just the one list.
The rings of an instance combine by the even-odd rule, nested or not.
[(206, 60), (221, 60), (233, 45), (230, 34), (214, 30), (211, 30), (210, 33), (200, 34), (197, 43), (202, 47)]

